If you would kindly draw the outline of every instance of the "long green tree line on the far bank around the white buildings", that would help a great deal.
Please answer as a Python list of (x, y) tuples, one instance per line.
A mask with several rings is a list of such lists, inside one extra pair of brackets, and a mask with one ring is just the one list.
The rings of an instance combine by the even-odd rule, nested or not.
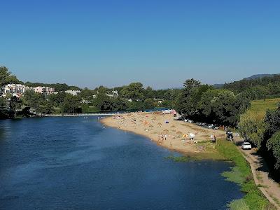
[[(37, 113), (89, 113), (97, 111), (121, 111), (127, 109), (153, 109), (158, 106), (170, 107), (174, 102), (179, 89), (153, 90), (152, 87), (144, 88), (142, 83), (130, 83), (120, 87), (99, 86), (90, 90), (69, 86), (65, 83), (23, 83), (14, 76), (6, 66), (0, 66), (0, 85), (9, 83), (25, 84), (29, 87), (45, 86), (55, 88), (56, 94), (43, 95), (33, 90), (26, 90), (22, 98), (18, 99), (7, 94), (0, 98), (0, 105), (10, 109), (9, 116), (18, 116), (21, 109), (30, 108)], [(66, 90), (79, 90), (78, 95), (68, 94)], [(118, 92), (118, 94), (113, 94)], [(9, 102), (8, 102), (9, 100)], [(162, 103), (160, 103), (160, 102)], [(83, 102), (86, 102), (83, 103)]]

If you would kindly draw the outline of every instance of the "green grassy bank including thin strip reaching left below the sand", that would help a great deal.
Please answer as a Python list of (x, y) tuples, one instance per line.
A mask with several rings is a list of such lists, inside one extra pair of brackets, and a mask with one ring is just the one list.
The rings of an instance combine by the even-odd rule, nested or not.
[[(213, 145), (211, 143), (202, 143), (204, 146)], [(210, 146), (211, 147), (211, 146)], [(272, 204), (269, 203), (267, 198), (262, 195), (262, 192), (255, 185), (251, 167), (246, 162), (245, 158), (239, 152), (237, 146), (230, 141), (218, 140), (215, 145), (215, 149), (209, 153), (197, 153), (195, 155), (181, 156), (181, 157), (167, 157), (175, 162), (188, 162), (195, 160), (228, 160), (235, 163), (235, 167), (232, 167), (230, 172), (223, 172), (223, 176), (228, 181), (232, 181), (241, 186), (241, 191), (246, 195), (241, 200), (234, 200), (228, 207), (233, 210), (240, 209), (275, 209)]]

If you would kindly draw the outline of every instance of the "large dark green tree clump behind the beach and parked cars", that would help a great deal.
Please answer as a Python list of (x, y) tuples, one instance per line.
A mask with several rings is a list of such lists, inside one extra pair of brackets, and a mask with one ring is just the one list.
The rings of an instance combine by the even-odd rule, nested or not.
[(176, 110), (188, 118), (232, 126), (237, 125), (239, 115), (249, 105), (249, 100), (242, 94), (216, 90), (209, 85), (200, 85), (199, 81), (193, 79), (186, 80), (184, 89), (174, 103)]

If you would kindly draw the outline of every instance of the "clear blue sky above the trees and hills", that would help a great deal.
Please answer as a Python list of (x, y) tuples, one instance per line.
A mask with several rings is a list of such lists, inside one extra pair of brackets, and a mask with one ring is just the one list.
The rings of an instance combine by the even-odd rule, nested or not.
[(0, 0), (0, 65), (24, 81), (80, 87), (280, 73), (279, 8), (279, 0)]

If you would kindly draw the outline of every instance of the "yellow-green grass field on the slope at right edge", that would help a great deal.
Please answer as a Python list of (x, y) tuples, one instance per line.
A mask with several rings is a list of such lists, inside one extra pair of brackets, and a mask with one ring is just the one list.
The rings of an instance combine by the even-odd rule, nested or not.
[(265, 99), (265, 101), (264, 100), (255, 100), (255, 101), (251, 102), (251, 108), (249, 110), (265, 114), (267, 109), (276, 109), (277, 104), (279, 102), (280, 102), (280, 98)]

